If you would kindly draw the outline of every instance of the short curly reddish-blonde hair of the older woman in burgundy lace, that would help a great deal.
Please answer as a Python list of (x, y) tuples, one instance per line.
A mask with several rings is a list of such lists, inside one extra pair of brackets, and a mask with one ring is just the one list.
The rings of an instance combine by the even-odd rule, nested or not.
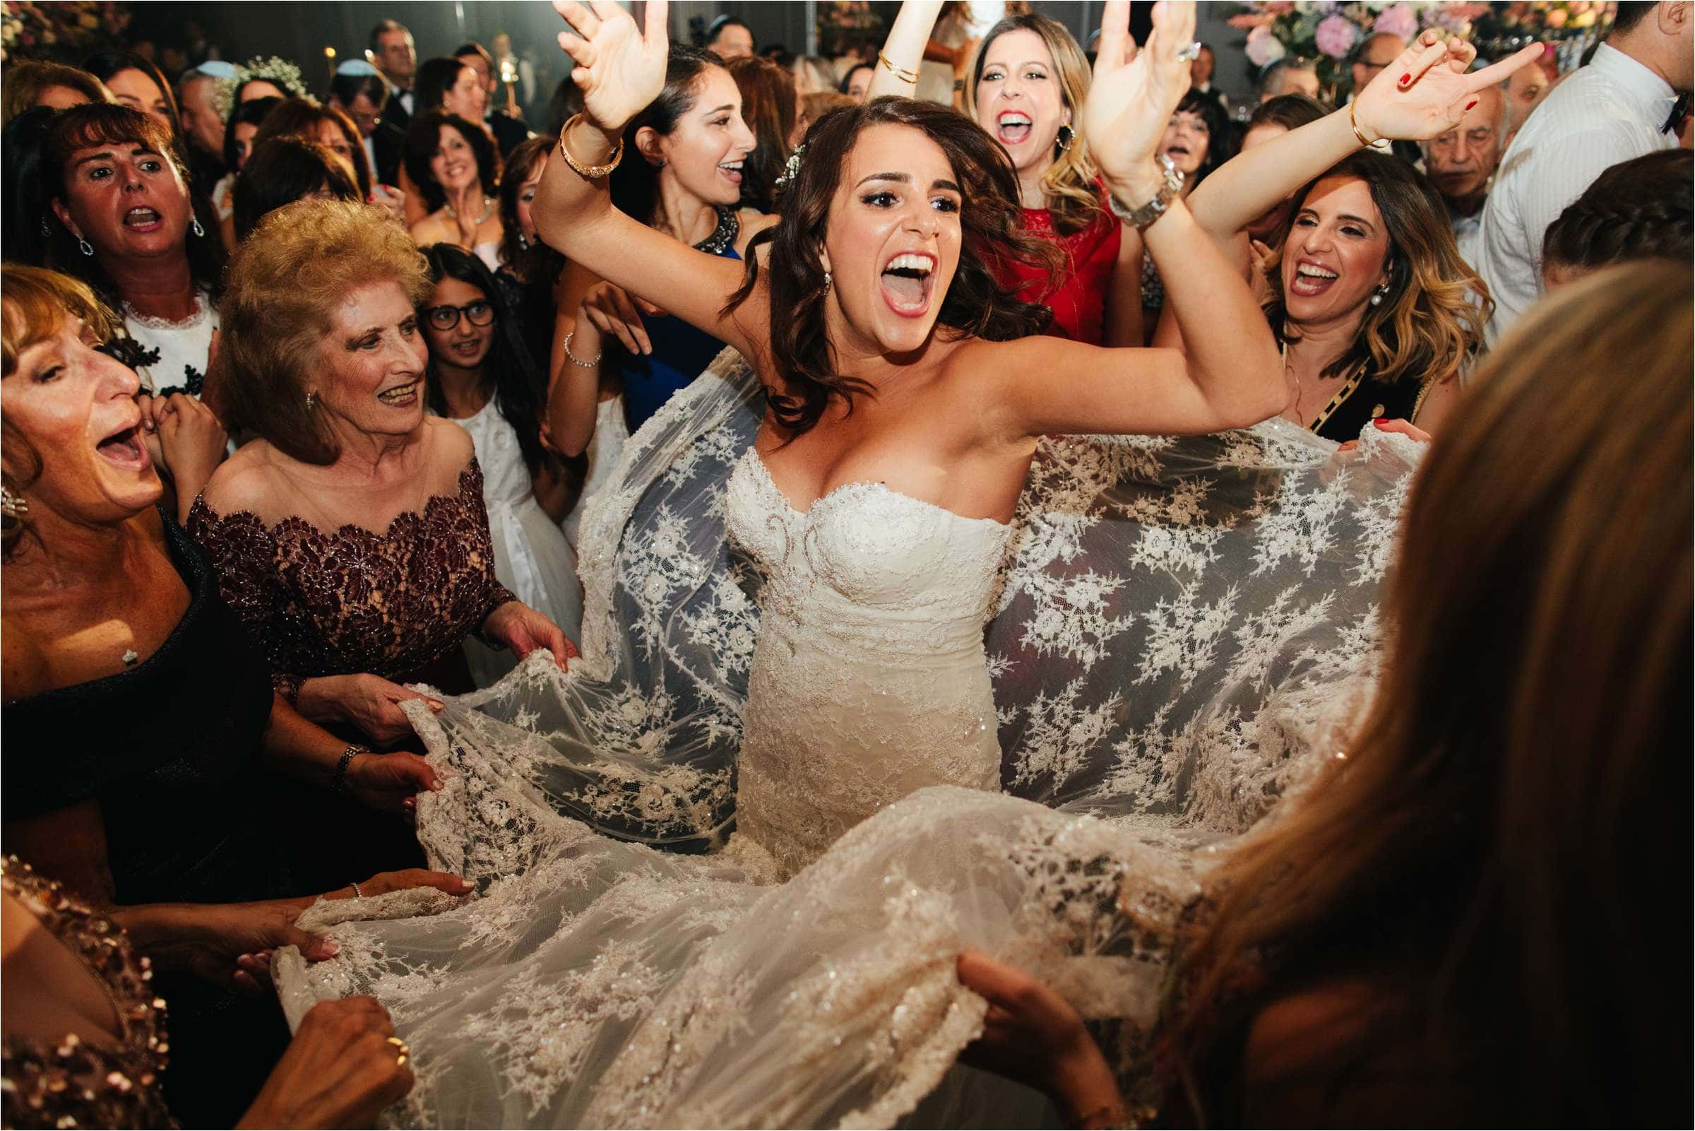
[(302, 463), (334, 463), (341, 449), (303, 385), (322, 365), (331, 312), (390, 281), (414, 307), (431, 290), (424, 254), (378, 205), (297, 200), (261, 219), (229, 261), (208, 375), (236, 419)]

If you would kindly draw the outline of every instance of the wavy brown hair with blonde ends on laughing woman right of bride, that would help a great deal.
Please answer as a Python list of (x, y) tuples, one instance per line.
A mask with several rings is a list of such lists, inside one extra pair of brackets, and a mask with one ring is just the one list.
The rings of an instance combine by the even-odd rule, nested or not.
[(1441, 382), (1456, 376), (1483, 346), (1483, 324), (1495, 309), (1488, 287), (1459, 258), (1454, 229), (1431, 187), (1400, 158), (1354, 153), (1307, 183), (1290, 205), (1266, 268), (1266, 317), (1278, 341), (1298, 337), (1283, 297), (1281, 249), (1314, 187), (1327, 176), (1366, 183), (1388, 229), (1388, 293), (1368, 305), (1359, 332), (1324, 376), (1370, 365), (1380, 382)]

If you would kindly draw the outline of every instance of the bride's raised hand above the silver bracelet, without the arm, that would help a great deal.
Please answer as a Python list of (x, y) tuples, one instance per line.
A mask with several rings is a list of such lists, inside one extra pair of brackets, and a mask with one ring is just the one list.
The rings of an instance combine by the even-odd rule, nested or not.
[(1109, 181), (1158, 175), (1154, 153), (1190, 85), (1188, 59), (1178, 53), (1195, 39), (1193, 0), (1159, 0), (1153, 17), (1148, 44), (1125, 59), (1131, 5), (1109, 0), (1102, 14), (1095, 78), (1083, 103), (1083, 137)]

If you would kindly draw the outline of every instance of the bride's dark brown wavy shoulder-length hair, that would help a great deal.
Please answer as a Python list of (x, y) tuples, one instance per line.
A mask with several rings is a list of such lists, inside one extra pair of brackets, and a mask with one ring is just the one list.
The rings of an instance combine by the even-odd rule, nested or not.
[(870, 125), (910, 125), (942, 148), (959, 183), (959, 268), (937, 315), (956, 337), (1007, 341), (1039, 334), (1053, 310), (1019, 298), (1019, 285), (1002, 285), (1012, 263), (1058, 271), (1058, 248), (1031, 236), (1019, 212), (1019, 180), (1012, 159), (983, 129), (949, 107), (912, 98), (878, 98), (863, 107), (831, 110), (807, 131), (805, 154), (793, 183), (780, 197), (781, 222), (749, 241), (741, 288), (724, 305), (731, 314), (754, 292), (759, 261), (754, 248), (771, 244), (771, 363), (786, 388), (770, 390), (771, 414), (792, 434), (819, 422), (831, 397), (853, 410), (870, 383), (836, 371), (824, 329), (824, 263), (820, 249), (829, 229), (831, 202), (842, 164), (859, 131)]

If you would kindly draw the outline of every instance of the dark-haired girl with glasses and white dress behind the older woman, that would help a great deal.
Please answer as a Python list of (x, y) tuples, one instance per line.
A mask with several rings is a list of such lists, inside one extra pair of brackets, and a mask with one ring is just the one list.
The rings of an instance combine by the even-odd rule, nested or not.
[[(476, 444), (495, 577), (575, 639), (583, 593), (576, 554), (558, 526), (563, 483), (541, 446), (541, 373), (481, 259), (453, 244), (432, 244), (424, 256), (436, 283), (419, 312), (429, 343), (429, 407), (456, 421)], [(478, 687), (515, 663), (510, 653), (476, 639), (464, 649)]]

